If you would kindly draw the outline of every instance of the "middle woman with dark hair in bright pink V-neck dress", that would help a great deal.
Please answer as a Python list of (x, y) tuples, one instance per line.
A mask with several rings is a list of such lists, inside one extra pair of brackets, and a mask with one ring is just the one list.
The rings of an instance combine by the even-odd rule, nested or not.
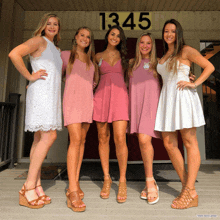
[(112, 184), (109, 175), (109, 123), (112, 123), (120, 172), (117, 201), (122, 203), (127, 198), (128, 149), (126, 145), (126, 128), (129, 120), (128, 92), (124, 82), (126, 42), (122, 28), (112, 26), (106, 33), (105, 41), (105, 50), (96, 54), (100, 82), (94, 95), (93, 113), (93, 120), (96, 121), (98, 129), (99, 155), (104, 173), (104, 184), (100, 196), (103, 199), (109, 198)]

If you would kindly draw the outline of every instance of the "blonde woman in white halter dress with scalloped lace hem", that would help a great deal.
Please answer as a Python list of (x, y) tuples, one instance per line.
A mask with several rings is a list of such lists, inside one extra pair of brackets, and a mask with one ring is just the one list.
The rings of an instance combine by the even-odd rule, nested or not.
[[(46, 14), (34, 37), (14, 48), (9, 57), (16, 69), (29, 80), (26, 96), (25, 131), (34, 133), (27, 180), (19, 191), (19, 204), (42, 208), (51, 199), (41, 186), (41, 166), (61, 130), (61, 71), (62, 60), (57, 44), (60, 40), (60, 20)], [(30, 56), (32, 74), (22, 57)]]

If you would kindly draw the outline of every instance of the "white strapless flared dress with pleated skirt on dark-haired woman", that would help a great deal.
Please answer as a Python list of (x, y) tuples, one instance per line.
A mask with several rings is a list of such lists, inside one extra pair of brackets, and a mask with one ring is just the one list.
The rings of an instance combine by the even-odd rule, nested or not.
[(178, 62), (177, 73), (169, 72), (167, 61), (157, 65), (157, 71), (163, 78), (160, 93), (156, 131), (172, 132), (183, 128), (200, 127), (205, 124), (201, 102), (196, 89), (177, 89), (177, 82), (189, 82), (190, 67)]

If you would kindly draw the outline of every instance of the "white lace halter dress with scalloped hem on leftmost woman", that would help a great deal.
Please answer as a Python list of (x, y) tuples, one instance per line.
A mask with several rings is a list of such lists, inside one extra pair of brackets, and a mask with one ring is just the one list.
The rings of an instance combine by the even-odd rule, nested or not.
[(62, 129), (60, 51), (47, 41), (47, 47), (40, 57), (30, 56), (32, 71), (46, 70), (46, 80), (30, 82), (26, 95), (25, 131), (49, 131)]

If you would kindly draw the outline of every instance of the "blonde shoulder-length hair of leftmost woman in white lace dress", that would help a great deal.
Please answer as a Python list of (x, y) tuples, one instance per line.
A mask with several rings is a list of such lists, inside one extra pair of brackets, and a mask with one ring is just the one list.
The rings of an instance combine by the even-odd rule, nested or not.
[(53, 13), (47, 13), (45, 14), (39, 24), (38, 24), (38, 27), (37, 29), (34, 31), (34, 36), (45, 36), (45, 28), (47, 26), (47, 22), (50, 18), (56, 18), (57, 21), (58, 21), (58, 26), (59, 26), (59, 29), (58, 29), (58, 33), (55, 35), (53, 41), (54, 41), (54, 44), (56, 46), (58, 46), (58, 42), (61, 40), (61, 37), (60, 37), (60, 19), (58, 18), (58, 16), (56, 14), (53, 14)]

